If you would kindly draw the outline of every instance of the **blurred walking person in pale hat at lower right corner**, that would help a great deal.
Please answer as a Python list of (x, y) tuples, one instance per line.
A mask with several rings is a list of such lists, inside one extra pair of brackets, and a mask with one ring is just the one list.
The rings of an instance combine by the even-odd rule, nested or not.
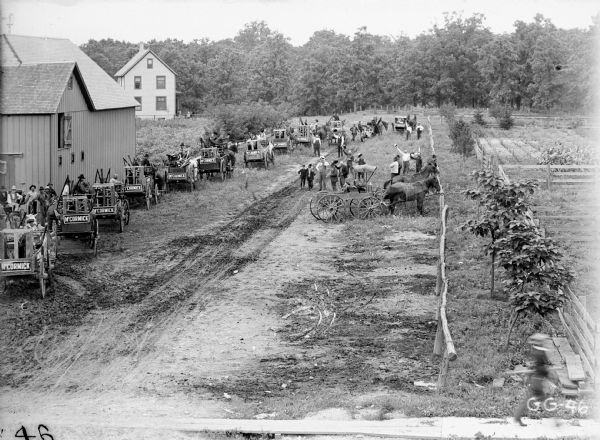
[(527, 342), (531, 346), (529, 354), (533, 364), (533, 371), (527, 380), (529, 385), (527, 394), (515, 412), (515, 422), (521, 426), (527, 426), (521, 419), (527, 412), (527, 402), (529, 399), (533, 397), (539, 401), (543, 401), (546, 398), (544, 384), (548, 380), (550, 373), (550, 362), (548, 361), (548, 356), (546, 355), (546, 352), (549, 351), (549, 339), (550, 338), (547, 335), (542, 333), (535, 333), (527, 339)]

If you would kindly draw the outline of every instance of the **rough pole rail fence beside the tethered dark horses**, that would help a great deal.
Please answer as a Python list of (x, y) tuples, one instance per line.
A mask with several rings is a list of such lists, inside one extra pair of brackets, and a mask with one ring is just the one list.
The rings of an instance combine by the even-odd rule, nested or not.
[[(433, 132), (431, 130), (431, 120), (427, 117), (429, 139), (431, 153), (435, 154), (435, 145), (433, 140)], [(440, 209), (440, 249), (439, 261), (437, 267), (437, 280), (435, 286), (435, 294), (439, 297), (437, 308), (437, 332), (435, 342), (433, 344), (433, 354), (441, 356), (440, 374), (438, 376), (437, 390), (438, 392), (446, 386), (448, 376), (448, 366), (451, 361), (456, 360), (457, 354), (452, 342), (450, 327), (448, 326), (448, 318), (446, 316), (446, 303), (448, 300), (448, 279), (446, 278), (446, 231), (448, 220), (448, 206), (444, 198), (444, 190), (440, 183), (439, 195)]]

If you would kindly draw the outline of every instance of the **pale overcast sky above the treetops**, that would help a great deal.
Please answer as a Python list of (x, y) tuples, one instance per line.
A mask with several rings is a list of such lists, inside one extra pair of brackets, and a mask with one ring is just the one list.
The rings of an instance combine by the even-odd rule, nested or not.
[(251, 21), (302, 45), (316, 30), (352, 35), (360, 26), (378, 35), (414, 37), (443, 22), (443, 13), (485, 15), (493, 32), (511, 32), (536, 13), (562, 28), (587, 28), (598, 0), (0, 0), (2, 32), (68, 38), (81, 44), (113, 38), (129, 42), (175, 38), (232, 38)]

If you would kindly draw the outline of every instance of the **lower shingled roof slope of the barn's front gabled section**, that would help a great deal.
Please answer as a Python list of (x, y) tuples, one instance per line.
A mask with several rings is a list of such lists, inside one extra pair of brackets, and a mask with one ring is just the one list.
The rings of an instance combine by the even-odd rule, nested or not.
[[(75, 63), (2, 67), (2, 113), (55, 113), (73, 70), (80, 77)], [(85, 85), (82, 89), (85, 93)]]

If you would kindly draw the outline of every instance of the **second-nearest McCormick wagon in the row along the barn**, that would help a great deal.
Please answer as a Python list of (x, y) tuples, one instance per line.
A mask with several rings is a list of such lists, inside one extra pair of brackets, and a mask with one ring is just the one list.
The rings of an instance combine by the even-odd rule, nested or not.
[(91, 195), (64, 195), (56, 207), (56, 234), (62, 238), (84, 241), (94, 255), (98, 253), (98, 219)]

